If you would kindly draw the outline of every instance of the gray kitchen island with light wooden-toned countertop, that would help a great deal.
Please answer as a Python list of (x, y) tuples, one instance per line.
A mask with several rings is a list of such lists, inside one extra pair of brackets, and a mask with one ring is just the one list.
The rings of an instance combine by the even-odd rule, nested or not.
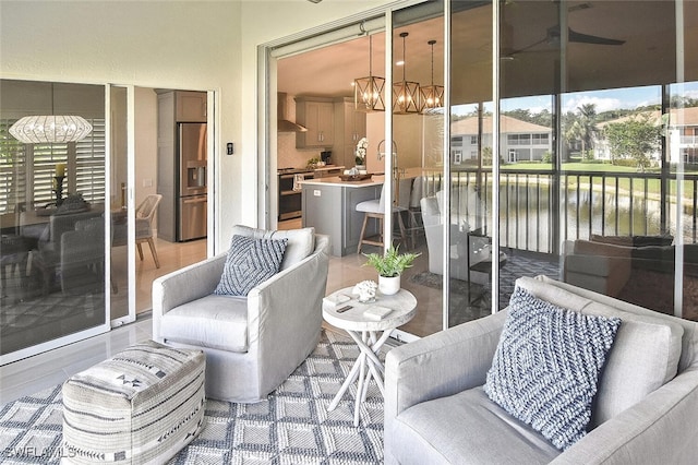
[[(342, 181), (337, 176), (301, 181), (303, 227), (313, 226), (316, 234), (328, 235), (333, 255), (356, 253), (363, 224), (357, 204), (378, 199), (383, 180), (374, 175), (363, 181)], [(366, 231), (377, 235), (378, 227), (369, 223)]]

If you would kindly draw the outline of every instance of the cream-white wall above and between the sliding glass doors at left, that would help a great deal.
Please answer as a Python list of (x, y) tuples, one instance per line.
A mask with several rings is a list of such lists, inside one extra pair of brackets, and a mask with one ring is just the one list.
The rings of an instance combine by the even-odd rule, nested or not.
[(256, 224), (257, 45), (386, 3), (1, 0), (0, 78), (217, 91), (215, 238), (227, 245), (233, 224)]

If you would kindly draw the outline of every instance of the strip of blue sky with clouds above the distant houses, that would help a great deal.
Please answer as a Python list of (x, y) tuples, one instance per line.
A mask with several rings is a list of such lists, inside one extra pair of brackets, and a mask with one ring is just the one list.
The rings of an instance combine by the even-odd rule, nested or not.
[[(683, 91), (679, 91), (679, 86), (674, 84), (672, 86), (672, 92), (681, 92), (687, 97), (698, 98), (698, 82), (686, 83), (683, 86)], [(645, 87), (569, 93), (563, 95), (563, 112), (576, 111), (577, 108), (586, 104), (595, 105), (598, 114), (618, 108), (633, 109), (646, 105), (659, 105), (661, 103), (661, 86), (652, 85)], [(485, 110), (492, 111), (492, 104), (488, 103), (484, 106)], [(459, 115), (469, 114), (474, 108), (474, 105), (462, 105), (455, 109), (454, 112)], [(531, 114), (539, 114), (543, 109), (551, 111), (552, 100), (549, 95), (502, 100), (502, 111), (510, 111), (519, 108), (528, 108)]]

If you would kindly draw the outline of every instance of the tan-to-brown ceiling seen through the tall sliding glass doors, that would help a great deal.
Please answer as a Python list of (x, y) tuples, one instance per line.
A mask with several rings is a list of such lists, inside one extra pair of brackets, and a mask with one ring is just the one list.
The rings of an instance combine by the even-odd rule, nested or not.
[[(476, 4), (476, 3), (470, 3)], [(489, 3), (452, 16), (452, 99), (458, 103), (490, 100), (492, 8)], [(502, 10), (503, 96), (549, 94), (558, 83), (561, 48), (545, 40), (559, 22), (558, 2), (507, 0)], [(673, 83), (676, 78), (675, 11), (671, 1), (573, 1), (565, 3), (569, 28), (578, 33), (625, 40), (623, 45), (569, 43), (565, 50), (563, 92)], [(698, 2), (684, 2), (684, 44), (698, 44)], [(359, 28), (357, 28), (359, 32)], [(431, 83), (431, 47), (434, 46), (434, 83), (443, 83), (443, 17), (394, 31), (394, 56), (402, 57), (406, 44), (408, 81)], [(533, 46), (533, 44), (535, 44)], [(516, 52), (517, 50), (524, 50)], [(698, 81), (698, 52), (684, 55), (686, 81)], [(373, 35), (373, 74), (384, 76), (385, 34)], [(278, 61), (278, 90), (289, 95), (352, 96), (351, 83), (369, 75), (369, 37), (317, 48)], [(394, 67), (395, 80), (402, 68)]]

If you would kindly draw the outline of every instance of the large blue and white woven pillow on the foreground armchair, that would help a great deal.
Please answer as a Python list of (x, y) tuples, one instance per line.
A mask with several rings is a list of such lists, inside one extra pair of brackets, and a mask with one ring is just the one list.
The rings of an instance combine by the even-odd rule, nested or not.
[(587, 433), (621, 319), (581, 314), (517, 287), (484, 390), (557, 449)]

